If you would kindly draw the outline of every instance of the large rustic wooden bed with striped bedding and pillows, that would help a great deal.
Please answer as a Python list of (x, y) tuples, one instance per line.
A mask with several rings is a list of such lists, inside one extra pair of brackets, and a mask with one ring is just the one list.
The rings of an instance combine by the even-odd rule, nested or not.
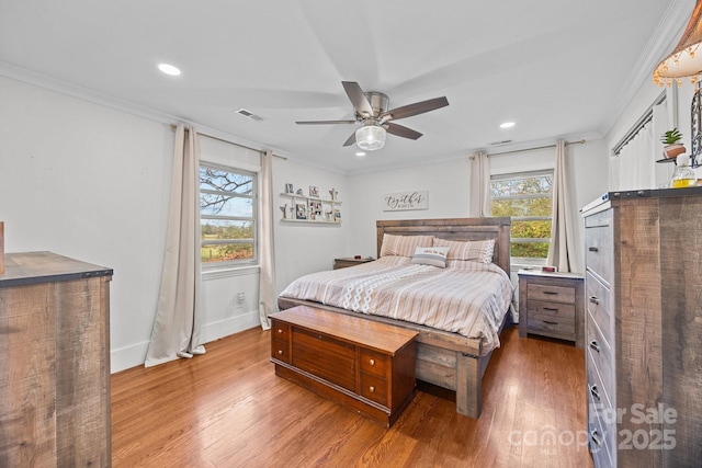
[[(392, 323), (417, 331), (419, 333), (417, 338), (417, 378), (454, 390), (456, 392), (456, 411), (461, 414), (477, 419), (482, 411), (483, 375), (485, 374), (492, 351), (499, 346), (499, 333), (506, 326), (511, 324), (510, 306), (512, 288), (511, 284), (509, 284), (510, 219), (497, 217), (378, 220), (376, 221), (376, 230), (377, 261), (344, 269), (346, 272), (343, 270), (336, 270), (332, 272), (319, 272), (317, 274), (305, 275), (293, 282), (281, 293), (278, 299), (279, 308), (283, 310), (298, 305), (307, 305), (325, 310), (363, 317), (367, 320)], [(491, 249), (492, 262), (489, 265), (485, 265), (486, 271), (491, 271), (491, 273), (482, 273), (484, 276), (480, 276), (480, 278), (487, 276), (507, 277), (509, 298), (508, 300), (500, 299), (499, 308), (501, 310), (490, 310), (489, 313), (486, 313), (490, 317), (485, 320), (471, 319), (472, 329), (461, 323), (454, 323), (454, 331), (441, 330), (433, 327), (433, 315), (412, 312), (416, 316), (412, 317), (412, 320), (417, 319), (418, 322), (400, 319), (400, 317), (404, 316), (398, 316), (398, 313), (403, 312), (405, 308), (403, 300), (405, 300), (408, 292), (410, 289), (414, 290), (416, 287), (410, 285), (414, 279), (405, 283), (406, 272), (415, 270), (421, 275), (421, 279), (417, 283), (420, 283), (424, 288), (421, 294), (423, 294), (422, 300), (424, 301), (422, 310), (426, 310), (433, 307), (428, 301), (429, 295), (427, 295), (427, 289), (438, 289), (435, 286), (432, 286), (432, 284), (449, 285), (446, 279), (449, 277), (448, 271), (455, 270), (456, 264), (460, 265), (460, 274), (463, 274), (463, 270), (466, 269), (479, 269), (480, 272), (484, 271), (482, 266), (478, 267), (474, 265), (474, 263), (479, 262), (454, 261), (453, 266), (451, 266), (452, 261), (449, 260), (446, 262), (446, 269), (439, 269), (424, 266), (423, 262), (419, 262), (420, 264), (412, 263), (411, 259), (392, 259), (392, 256), (403, 255), (392, 254), (394, 252), (392, 246), (388, 247), (388, 240), (403, 239), (411, 243), (412, 240), (419, 242), (418, 239), (428, 239), (419, 237), (409, 239), (407, 238), (408, 236), (439, 238), (443, 240), (441, 246), (449, 244), (452, 246), (451, 249), (458, 246), (458, 242), (474, 241), (471, 242), (471, 244), (480, 244), (480, 242), (477, 241), (489, 241), (491, 243), (491, 240), (494, 240), (494, 248)], [(385, 246), (383, 244), (384, 240)], [(449, 259), (451, 259), (451, 254), (449, 254)], [(363, 288), (359, 289), (358, 285), (364, 283), (383, 283), (384, 279), (378, 278), (385, 276), (376, 276), (380, 275), (380, 273), (376, 273), (374, 269), (389, 272), (389, 276), (394, 276), (395, 279), (397, 279), (397, 282), (387, 281), (392, 286), (389, 288), (394, 290), (394, 294), (397, 294), (397, 290), (400, 290), (401, 294), (383, 297), (378, 293), (377, 295), (381, 296), (380, 299), (375, 296), (373, 296), (372, 300), (369, 299), (370, 295), (367, 290)], [(434, 281), (434, 275), (439, 275), (439, 279), (437, 279), (439, 283), (431, 283)], [(453, 273), (451, 273), (451, 275), (453, 275)], [(342, 277), (347, 277), (348, 281), (354, 283), (355, 286), (352, 287), (342, 284)], [(321, 278), (321, 281), (325, 282), (324, 286), (316, 286), (312, 283), (315, 278)], [(483, 283), (483, 279), (480, 279), (480, 283)], [(503, 279), (500, 279), (498, 283), (503, 284)], [(505, 288), (505, 286), (499, 287), (501, 289)], [(305, 293), (299, 294), (299, 290), (295, 289), (304, 289)], [(316, 293), (310, 293), (310, 289), (315, 289)], [(374, 294), (376, 293), (374, 292)], [(485, 296), (487, 292), (480, 294)], [(505, 292), (501, 290), (500, 295), (503, 294)], [(342, 297), (344, 295), (346, 297)], [(491, 303), (492, 299), (490, 299), (490, 304)], [(450, 303), (443, 303), (439, 309), (444, 309), (448, 304)], [(492, 305), (490, 307), (494, 309), (496, 306)], [(483, 321), (491, 323), (489, 327), (490, 330), (486, 328)], [(474, 327), (475, 323), (477, 323), (477, 328)], [(477, 335), (475, 335), (476, 330), (478, 331)], [(474, 335), (466, 335), (472, 332)]]

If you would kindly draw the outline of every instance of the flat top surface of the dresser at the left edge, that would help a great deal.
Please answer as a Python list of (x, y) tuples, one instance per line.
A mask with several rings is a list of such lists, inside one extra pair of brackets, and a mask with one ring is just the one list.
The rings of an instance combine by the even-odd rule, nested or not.
[(112, 269), (92, 265), (53, 252), (5, 253), (0, 288), (112, 276)]

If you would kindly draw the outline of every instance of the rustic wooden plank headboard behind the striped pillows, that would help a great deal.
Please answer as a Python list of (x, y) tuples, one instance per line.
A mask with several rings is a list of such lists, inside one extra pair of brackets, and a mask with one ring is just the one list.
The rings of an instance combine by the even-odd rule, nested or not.
[(445, 219), (393, 219), (375, 221), (377, 229), (377, 256), (381, 256), (383, 235), (435, 236), (448, 240), (495, 239), (492, 263), (510, 269), (510, 227), (508, 217), (499, 218), (445, 218)]

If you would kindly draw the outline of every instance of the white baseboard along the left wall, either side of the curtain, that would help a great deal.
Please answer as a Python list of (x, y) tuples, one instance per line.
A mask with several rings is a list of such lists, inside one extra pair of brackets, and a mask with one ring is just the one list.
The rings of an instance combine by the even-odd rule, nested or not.
[[(204, 344), (220, 338), (260, 326), (259, 311), (253, 310), (226, 320), (202, 326), (201, 335)], [(149, 342), (136, 343), (118, 350), (110, 351), (110, 373), (115, 374), (131, 367), (143, 366)]]

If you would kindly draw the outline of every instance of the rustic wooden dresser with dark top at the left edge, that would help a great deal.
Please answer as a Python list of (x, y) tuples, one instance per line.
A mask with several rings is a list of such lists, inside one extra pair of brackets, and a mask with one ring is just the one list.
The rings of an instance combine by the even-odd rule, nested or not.
[(112, 270), (5, 254), (0, 275), (0, 466), (109, 467)]

